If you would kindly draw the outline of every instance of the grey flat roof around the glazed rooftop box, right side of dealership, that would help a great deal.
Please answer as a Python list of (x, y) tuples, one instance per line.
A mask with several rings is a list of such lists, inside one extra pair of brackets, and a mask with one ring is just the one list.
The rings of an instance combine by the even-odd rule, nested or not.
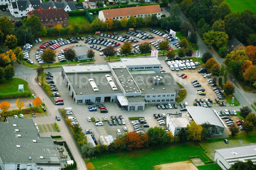
[[(175, 90), (180, 90), (170, 73), (133, 74), (132, 76), (141, 89), (142, 94), (175, 93)], [(155, 84), (152, 82), (154, 78), (161, 79), (160, 81), (164, 83)]]

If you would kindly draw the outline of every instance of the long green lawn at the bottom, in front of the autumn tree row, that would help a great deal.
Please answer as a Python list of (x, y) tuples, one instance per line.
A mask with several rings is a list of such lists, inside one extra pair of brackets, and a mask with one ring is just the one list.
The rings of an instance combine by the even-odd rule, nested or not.
[[(200, 156), (203, 160), (208, 161), (202, 149), (195, 145), (182, 145), (164, 147), (160, 149), (145, 149), (141, 151), (121, 152), (96, 156), (90, 158), (95, 169), (154, 169), (152, 165), (185, 161), (189, 156)], [(88, 163), (88, 161), (85, 161)]]

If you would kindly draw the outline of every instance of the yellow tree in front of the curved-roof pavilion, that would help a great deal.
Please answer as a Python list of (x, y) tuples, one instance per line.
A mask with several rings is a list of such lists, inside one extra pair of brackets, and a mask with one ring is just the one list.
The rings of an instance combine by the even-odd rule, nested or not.
[(187, 125), (188, 136), (190, 140), (201, 140), (202, 126), (197, 125), (194, 121)]

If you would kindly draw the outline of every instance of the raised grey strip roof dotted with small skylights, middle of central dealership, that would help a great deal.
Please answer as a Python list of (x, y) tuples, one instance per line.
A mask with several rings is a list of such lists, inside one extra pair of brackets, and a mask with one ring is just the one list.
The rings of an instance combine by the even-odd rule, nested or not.
[(113, 68), (115, 75), (119, 82), (122, 84), (123, 89), (126, 93), (140, 93), (140, 89), (134, 82), (132, 75), (129, 73), (126, 67), (124, 68)]

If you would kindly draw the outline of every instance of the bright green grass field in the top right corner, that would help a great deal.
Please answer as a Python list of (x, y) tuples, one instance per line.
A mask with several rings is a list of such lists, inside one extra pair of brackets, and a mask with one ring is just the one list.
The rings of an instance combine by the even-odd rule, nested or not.
[(255, 0), (226, 0), (226, 2), (230, 4), (232, 12), (242, 12), (246, 9), (250, 9), (252, 12), (256, 11)]

